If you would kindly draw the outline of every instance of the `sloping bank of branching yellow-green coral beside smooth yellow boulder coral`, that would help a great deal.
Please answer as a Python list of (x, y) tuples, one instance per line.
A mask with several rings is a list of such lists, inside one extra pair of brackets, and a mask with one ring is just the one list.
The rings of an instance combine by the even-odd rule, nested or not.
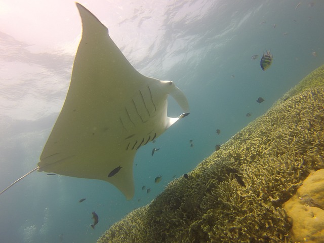
[(324, 168), (323, 85), (324, 66), (97, 242), (294, 242), (283, 204)]

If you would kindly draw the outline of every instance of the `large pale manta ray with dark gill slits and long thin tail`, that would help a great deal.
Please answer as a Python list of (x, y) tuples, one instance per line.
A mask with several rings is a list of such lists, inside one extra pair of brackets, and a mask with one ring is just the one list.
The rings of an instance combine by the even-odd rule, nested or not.
[[(62, 110), (33, 171), (107, 181), (134, 196), (137, 150), (189, 114), (188, 101), (172, 81), (139, 73), (89, 10), (82, 19), (71, 82)], [(184, 111), (168, 117), (168, 96)]]

